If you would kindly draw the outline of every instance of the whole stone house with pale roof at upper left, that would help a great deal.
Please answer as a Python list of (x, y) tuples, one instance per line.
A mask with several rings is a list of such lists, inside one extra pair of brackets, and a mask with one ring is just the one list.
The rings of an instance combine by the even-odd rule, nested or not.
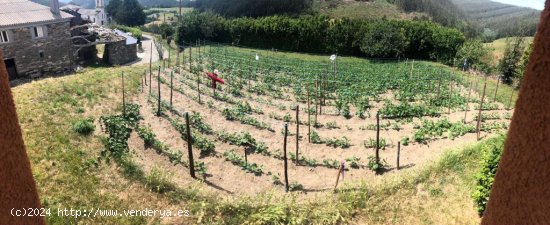
[(74, 16), (28, 0), (0, 0), (0, 49), (10, 80), (71, 68), (70, 22)]

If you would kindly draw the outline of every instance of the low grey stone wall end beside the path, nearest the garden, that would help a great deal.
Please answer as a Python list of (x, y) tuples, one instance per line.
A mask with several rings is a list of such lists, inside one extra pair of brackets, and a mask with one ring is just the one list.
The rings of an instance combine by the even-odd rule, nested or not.
[(126, 39), (105, 44), (103, 60), (111, 65), (123, 65), (137, 60), (136, 44), (126, 45)]

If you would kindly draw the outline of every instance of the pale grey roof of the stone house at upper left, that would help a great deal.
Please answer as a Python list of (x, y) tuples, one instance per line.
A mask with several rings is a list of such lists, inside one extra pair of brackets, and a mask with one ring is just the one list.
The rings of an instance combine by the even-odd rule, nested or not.
[(55, 15), (49, 7), (28, 0), (0, 0), (0, 27), (63, 21), (73, 17), (63, 11)]

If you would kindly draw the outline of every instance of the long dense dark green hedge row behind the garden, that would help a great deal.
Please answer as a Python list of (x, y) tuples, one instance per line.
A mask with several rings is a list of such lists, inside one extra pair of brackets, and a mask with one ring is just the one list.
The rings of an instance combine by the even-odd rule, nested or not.
[(373, 58), (418, 58), (449, 62), (465, 41), (453, 28), (429, 21), (268, 16), (227, 19), (193, 11), (183, 15), (175, 41), (197, 39), (253, 48), (338, 53)]

